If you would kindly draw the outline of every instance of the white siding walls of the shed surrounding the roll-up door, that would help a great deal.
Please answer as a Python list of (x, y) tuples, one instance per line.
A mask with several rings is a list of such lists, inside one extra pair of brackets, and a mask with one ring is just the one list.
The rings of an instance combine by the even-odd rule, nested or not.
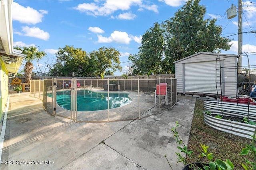
[[(216, 57), (218, 54), (215, 53), (204, 53), (204, 52), (199, 52), (196, 53), (192, 56), (186, 57), (180, 61), (176, 61), (175, 62), (175, 78), (177, 79), (177, 92), (178, 93), (185, 93), (185, 80), (186, 80), (186, 76), (185, 76), (185, 69), (186, 66), (188, 66), (189, 64), (186, 65), (186, 63), (198, 63), (200, 66), (200, 63), (202, 63), (202, 67), (203, 67), (203, 63), (205, 62), (211, 62), (212, 64), (214, 63), (214, 86), (216, 89), (216, 82), (215, 82), (215, 70), (216, 70)], [(221, 84), (222, 84), (222, 95), (226, 95), (226, 96), (235, 96), (236, 95), (236, 82), (237, 82), (237, 70), (236, 70), (236, 56), (230, 56), (230, 55), (220, 55), (220, 60), (221, 60), (221, 68), (217, 68), (217, 72), (221, 72)], [(217, 60), (217, 65), (219, 67), (220, 63)], [(198, 68), (199, 69), (199, 68)], [(197, 69), (195, 69), (196, 72)], [(193, 72), (192, 72), (193, 74)], [(212, 74), (212, 72), (210, 73)], [(219, 74), (219, 73), (218, 73)], [(207, 75), (207, 74), (206, 74)], [(220, 82), (220, 81), (218, 81)], [(220, 83), (217, 84), (218, 86), (220, 86)], [(198, 85), (196, 85), (198, 86)], [(200, 88), (200, 87), (198, 87)], [(195, 89), (194, 91), (196, 92), (200, 92), (200, 89)], [(220, 90), (218, 88), (218, 94), (220, 94)]]

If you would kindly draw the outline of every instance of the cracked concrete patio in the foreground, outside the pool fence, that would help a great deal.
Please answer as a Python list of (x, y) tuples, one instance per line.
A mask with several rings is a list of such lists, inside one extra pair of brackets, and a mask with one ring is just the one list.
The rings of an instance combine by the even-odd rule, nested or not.
[[(42, 101), (28, 92), (10, 94), (1, 157), (8, 164), (0, 169), (181, 170), (184, 165), (177, 163), (171, 128), (178, 121), (179, 135), (188, 143), (195, 101), (178, 96), (174, 107), (150, 115), (158, 112), (158, 107), (152, 107), (143, 119), (75, 123), (52, 117)], [(132, 109), (123, 108), (123, 112)]]

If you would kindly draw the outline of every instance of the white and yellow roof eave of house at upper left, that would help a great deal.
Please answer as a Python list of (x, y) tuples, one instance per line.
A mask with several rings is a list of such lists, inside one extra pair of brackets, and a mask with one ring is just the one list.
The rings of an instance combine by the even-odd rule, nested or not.
[(0, 57), (8, 73), (17, 74), (26, 55), (13, 49), (12, 2), (0, 0)]

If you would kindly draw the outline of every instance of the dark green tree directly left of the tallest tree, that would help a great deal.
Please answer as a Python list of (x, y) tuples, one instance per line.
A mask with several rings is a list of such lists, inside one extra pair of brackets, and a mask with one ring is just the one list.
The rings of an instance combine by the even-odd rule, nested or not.
[(142, 36), (138, 55), (130, 55), (134, 72), (138, 74), (162, 74), (162, 59), (164, 54), (164, 30), (159, 23), (154, 23)]

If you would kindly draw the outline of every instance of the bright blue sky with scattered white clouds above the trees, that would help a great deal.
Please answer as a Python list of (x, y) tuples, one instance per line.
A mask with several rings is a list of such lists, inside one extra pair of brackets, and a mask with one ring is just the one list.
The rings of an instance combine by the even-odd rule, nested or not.
[[(155, 22), (174, 16), (185, 0), (14, 0), (12, 4), (14, 46), (36, 45), (47, 56), (40, 67), (52, 64), (58, 48), (73, 45), (90, 53), (100, 47), (114, 47), (122, 54), (121, 66), (128, 66), (129, 54), (138, 53), (141, 37)], [(222, 36), (230, 36), (232, 47), (222, 53), (238, 53), (238, 14), (227, 19), (226, 10), (238, 0), (201, 0), (205, 18), (217, 18)], [(243, 0), (243, 51), (250, 65), (256, 65), (256, 0)], [(238, 10), (238, 9), (237, 9)], [(235, 34), (235, 35), (234, 35)], [(36, 63), (33, 63), (36, 67)], [(243, 65), (248, 65), (243, 57)], [(255, 66), (254, 66), (255, 68)], [(36, 68), (34, 72), (37, 72)], [(116, 76), (122, 72), (115, 72)]]

